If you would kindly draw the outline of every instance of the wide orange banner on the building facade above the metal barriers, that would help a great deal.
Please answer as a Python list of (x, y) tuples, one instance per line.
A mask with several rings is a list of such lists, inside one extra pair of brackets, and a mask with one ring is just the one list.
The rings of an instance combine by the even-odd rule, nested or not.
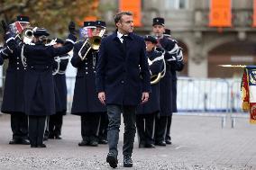
[(231, 0), (211, 0), (209, 26), (232, 26)]

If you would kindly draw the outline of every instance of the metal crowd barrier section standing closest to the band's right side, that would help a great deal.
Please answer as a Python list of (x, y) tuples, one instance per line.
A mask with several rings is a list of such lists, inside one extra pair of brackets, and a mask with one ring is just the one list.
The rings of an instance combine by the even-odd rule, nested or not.
[(230, 112), (230, 85), (220, 78), (178, 78), (177, 115), (215, 116), (222, 127)]

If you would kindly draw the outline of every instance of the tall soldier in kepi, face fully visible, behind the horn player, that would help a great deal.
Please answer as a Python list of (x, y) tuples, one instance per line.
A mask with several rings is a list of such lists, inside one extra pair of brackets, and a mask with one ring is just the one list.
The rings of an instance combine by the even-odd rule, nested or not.
[(178, 44), (175, 40), (163, 35), (165, 31), (164, 19), (153, 19), (152, 31), (158, 39), (157, 49), (164, 53), (166, 62), (165, 76), (160, 80), (160, 114), (156, 119), (155, 127), (155, 144), (158, 146), (166, 146), (165, 137), (167, 130), (167, 122), (172, 115), (172, 73), (171, 67), (177, 63)]

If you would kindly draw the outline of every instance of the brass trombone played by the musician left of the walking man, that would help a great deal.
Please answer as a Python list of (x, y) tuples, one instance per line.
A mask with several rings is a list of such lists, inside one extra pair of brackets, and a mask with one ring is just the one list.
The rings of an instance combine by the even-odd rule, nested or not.
[[(87, 38), (87, 40), (84, 42), (81, 49), (79, 49), (78, 56), (82, 60), (84, 60), (87, 57), (87, 53), (89, 52), (90, 49), (98, 50), (104, 34), (105, 34), (105, 29), (101, 30), (97, 36)], [(82, 51), (86, 51), (85, 55), (82, 54), (83, 53)]]

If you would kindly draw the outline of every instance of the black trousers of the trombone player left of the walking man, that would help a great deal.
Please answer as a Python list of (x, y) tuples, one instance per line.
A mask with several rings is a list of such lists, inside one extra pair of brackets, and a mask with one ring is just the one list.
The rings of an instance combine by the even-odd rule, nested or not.
[(81, 135), (85, 141), (98, 141), (100, 112), (87, 113), (81, 116)]

